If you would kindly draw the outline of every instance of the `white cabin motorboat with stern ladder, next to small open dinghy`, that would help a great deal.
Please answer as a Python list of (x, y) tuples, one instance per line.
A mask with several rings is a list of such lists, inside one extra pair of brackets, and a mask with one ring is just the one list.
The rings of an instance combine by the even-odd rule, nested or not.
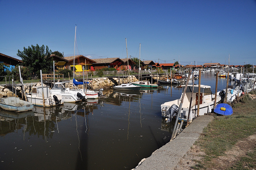
[[(49, 86), (44, 86), (44, 100), (45, 100), (45, 107), (51, 107), (56, 105), (62, 105), (63, 100), (61, 95), (53, 95), (50, 92)], [(32, 88), (31, 93), (26, 94), (28, 102), (33, 103), (37, 106), (44, 106), (43, 105), (43, 93), (42, 87), (34, 87)]]

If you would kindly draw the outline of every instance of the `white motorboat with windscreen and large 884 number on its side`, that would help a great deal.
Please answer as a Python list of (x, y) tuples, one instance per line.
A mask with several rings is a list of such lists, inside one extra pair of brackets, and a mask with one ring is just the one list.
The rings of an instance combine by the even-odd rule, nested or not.
[(53, 95), (61, 95), (64, 102), (77, 102), (84, 99), (84, 96), (79, 91), (72, 91), (64, 86), (65, 82), (57, 82), (50, 89)]

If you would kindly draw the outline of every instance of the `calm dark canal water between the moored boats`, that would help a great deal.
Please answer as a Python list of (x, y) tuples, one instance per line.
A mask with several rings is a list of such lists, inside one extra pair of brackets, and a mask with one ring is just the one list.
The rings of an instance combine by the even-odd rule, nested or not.
[[(212, 72), (202, 73), (213, 93), (215, 83)], [(219, 78), (218, 91), (225, 87)], [(105, 93), (45, 115), (42, 107), (20, 115), (0, 110), (0, 169), (132, 169), (170, 141), (174, 125), (162, 123), (160, 105), (180, 98), (181, 88)]]

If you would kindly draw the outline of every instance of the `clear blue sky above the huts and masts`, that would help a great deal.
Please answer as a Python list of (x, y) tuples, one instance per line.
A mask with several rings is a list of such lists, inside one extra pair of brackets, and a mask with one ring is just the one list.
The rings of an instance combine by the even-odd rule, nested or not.
[[(0, 0), (0, 53), (47, 45), (91, 59), (256, 64), (256, 0)], [(20, 58), (19, 58), (20, 59)]]

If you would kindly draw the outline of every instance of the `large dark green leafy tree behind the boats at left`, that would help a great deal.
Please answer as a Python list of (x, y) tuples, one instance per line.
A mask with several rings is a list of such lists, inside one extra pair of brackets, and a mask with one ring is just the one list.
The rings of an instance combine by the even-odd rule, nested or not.
[(38, 75), (38, 71), (44, 70), (50, 71), (50, 67), (52, 65), (52, 60), (50, 60), (50, 55), (52, 51), (48, 49), (48, 46), (46, 45), (46, 48), (44, 45), (41, 47), (36, 44), (36, 46), (31, 45), (28, 46), (28, 48), (24, 47), (23, 51), (20, 51), (18, 49), (17, 55), (22, 58), (23, 66), (27, 67), (28, 70), (31, 71), (32, 75)]

